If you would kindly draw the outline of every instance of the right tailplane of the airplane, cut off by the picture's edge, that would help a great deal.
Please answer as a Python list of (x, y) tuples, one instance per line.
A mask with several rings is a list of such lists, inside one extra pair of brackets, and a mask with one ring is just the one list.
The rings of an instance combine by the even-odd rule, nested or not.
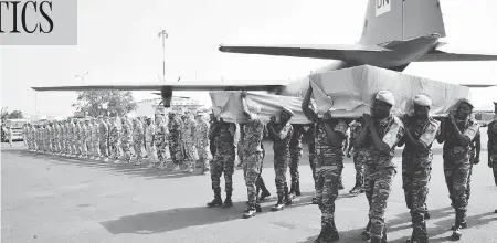
[(456, 50), (446, 45), (438, 44), (435, 49), (426, 53), (414, 62), (464, 62), (464, 61), (497, 61), (496, 53), (486, 53), (484, 51)]

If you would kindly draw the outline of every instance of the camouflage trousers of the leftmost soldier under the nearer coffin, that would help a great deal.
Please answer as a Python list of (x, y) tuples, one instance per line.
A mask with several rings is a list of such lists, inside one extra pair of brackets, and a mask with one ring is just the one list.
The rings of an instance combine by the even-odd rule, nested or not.
[(316, 173), (316, 199), (321, 210), (321, 225), (334, 225), (340, 168), (339, 166), (321, 166)]

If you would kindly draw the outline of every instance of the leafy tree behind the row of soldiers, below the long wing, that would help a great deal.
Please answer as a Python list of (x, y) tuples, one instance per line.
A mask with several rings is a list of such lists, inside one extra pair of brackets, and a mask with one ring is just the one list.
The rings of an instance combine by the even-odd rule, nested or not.
[(125, 114), (135, 110), (137, 105), (129, 91), (82, 91), (77, 92), (77, 102), (72, 105), (87, 115)]

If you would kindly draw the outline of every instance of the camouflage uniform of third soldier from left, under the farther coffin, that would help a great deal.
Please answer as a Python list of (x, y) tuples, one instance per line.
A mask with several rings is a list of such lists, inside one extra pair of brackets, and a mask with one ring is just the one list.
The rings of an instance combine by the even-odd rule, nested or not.
[(274, 171), (275, 171), (275, 183), (276, 191), (278, 194), (278, 201), (273, 207), (274, 210), (282, 209), (282, 205), (286, 202), (289, 204), (292, 202), (288, 194), (288, 184), (286, 182), (286, 171), (289, 163), (289, 141), (292, 139), (294, 128), (289, 123), (287, 124), (274, 124), (274, 131), (276, 133), (276, 138), (273, 142), (274, 150)]

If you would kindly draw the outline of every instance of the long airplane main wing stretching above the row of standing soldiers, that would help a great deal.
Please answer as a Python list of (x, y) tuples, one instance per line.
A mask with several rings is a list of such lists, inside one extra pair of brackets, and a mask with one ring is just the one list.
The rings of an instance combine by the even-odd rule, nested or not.
[(64, 85), (31, 87), (38, 92), (47, 91), (273, 91), (284, 86), (288, 81), (222, 81), (222, 82), (178, 82), (152, 84), (105, 84), (105, 85)]

